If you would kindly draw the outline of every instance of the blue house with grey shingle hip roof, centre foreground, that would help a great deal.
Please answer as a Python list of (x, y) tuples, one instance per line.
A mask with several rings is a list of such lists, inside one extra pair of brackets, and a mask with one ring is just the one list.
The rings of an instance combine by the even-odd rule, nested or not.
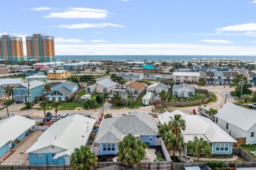
[(130, 114), (103, 119), (92, 151), (96, 155), (115, 155), (118, 152), (118, 142), (129, 133), (150, 146), (157, 145), (158, 128), (153, 116), (133, 111)]

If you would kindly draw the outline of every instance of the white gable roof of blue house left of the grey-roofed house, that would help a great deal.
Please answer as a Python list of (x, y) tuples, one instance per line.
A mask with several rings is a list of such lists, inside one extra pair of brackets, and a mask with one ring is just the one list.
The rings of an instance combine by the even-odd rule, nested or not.
[[(85, 145), (90, 137), (95, 120), (82, 115), (73, 115), (55, 122), (37, 139), (26, 154), (36, 152), (49, 146), (62, 148), (55, 158), (71, 155), (75, 148)], [(74, 133), (75, 132), (75, 133)], [(73, 139), (73, 140), (70, 140)]]

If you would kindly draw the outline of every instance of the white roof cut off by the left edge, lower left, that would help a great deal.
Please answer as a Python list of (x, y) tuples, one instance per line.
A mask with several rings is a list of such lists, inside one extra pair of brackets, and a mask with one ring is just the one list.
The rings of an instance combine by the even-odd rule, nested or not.
[(22, 133), (34, 126), (35, 123), (35, 120), (31, 120), (30, 118), (20, 115), (15, 115), (1, 120), (0, 148), (7, 142), (17, 139)]

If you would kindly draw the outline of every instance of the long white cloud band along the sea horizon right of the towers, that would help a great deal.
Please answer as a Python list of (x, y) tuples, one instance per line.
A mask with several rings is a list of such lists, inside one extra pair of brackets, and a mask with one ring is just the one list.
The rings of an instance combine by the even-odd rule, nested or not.
[(56, 55), (255, 55), (255, 46), (194, 44), (55, 44)]

